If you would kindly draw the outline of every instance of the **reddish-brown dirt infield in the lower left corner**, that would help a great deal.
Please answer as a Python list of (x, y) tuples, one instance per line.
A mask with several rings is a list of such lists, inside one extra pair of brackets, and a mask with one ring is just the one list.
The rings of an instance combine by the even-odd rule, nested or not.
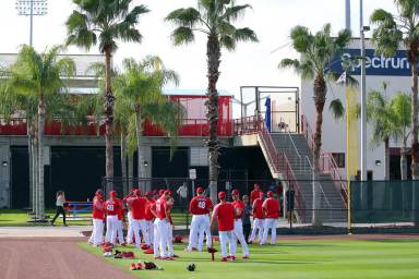
[(0, 278), (134, 278), (77, 247), (81, 239), (0, 239)]

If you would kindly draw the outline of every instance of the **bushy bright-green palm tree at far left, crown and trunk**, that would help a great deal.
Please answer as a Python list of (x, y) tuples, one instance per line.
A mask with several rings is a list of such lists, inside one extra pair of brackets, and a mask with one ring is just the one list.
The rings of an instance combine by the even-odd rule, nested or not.
[[(45, 220), (44, 203), (44, 130), (47, 117), (47, 107), (53, 101), (65, 85), (62, 76), (73, 76), (75, 65), (70, 58), (58, 58), (61, 46), (38, 53), (33, 47), (24, 45), (17, 53), (16, 62), (10, 68), (9, 85), (17, 94), (28, 95), (37, 100), (35, 160), (36, 166), (36, 217)], [(58, 108), (62, 108), (61, 105)]]

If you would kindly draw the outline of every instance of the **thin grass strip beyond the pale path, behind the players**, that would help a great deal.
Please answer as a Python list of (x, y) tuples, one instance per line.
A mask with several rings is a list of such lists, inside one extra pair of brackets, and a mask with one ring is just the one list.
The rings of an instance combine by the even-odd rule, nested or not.
[[(53, 218), (56, 211), (53, 209), (49, 209), (46, 211), (46, 214)], [(80, 214), (80, 217), (83, 218), (91, 218), (91, 214)], [(185, 225), (187, 216), (185, 214), (181, 214), (179, 211), (175, 211), (172, 214), (173, 222), (176, 226), (179, 225)], [(32, 223), (28, 222), (31, 216), (27, 214), (27, 211), (20, 210), (20, 209), (0, 209), (0, 227), (26, 227), (26, 226), (49, 226), (48, 223)], [(191, 221), (189, 217), (189, 222)], [(62, 218), (58, 218), (56, 221), (57, 226), (62, 225)], [(91, 226), (91, 220), (71, 220), (68, 219), (68, 225), (70, 226)]]

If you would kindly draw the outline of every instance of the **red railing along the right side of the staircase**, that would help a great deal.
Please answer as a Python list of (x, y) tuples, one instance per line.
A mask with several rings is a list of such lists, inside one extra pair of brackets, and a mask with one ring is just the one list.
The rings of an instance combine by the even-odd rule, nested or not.
[[(314, 133), (310, 128), (309, 121), (306, 116), (301, 116), (301, 134), (306, 137), (307, 143), (312, 151), (314, 151)], [(332, 154), (322, 154), (320, 158), (320, 170), (323, 173), (330, 173), (335, 183), (336, 190), (340, 193), (345, 206), (348, 206), (348, 191), (346, 181), (342, 179), (339, 168)]]

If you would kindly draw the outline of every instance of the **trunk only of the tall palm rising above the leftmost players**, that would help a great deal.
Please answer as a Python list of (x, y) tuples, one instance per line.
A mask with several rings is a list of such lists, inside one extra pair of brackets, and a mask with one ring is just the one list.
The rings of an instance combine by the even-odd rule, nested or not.
[[(105, 144), (106, 144), (106, 177), (108, 179), (113, 178), (113, 144), (112, 144), (112, 133), (113, 133), (113, 102), (115, 97), (112, 94), (111, 87), (111, 48), (107, 47), (105, 50)], [(106, 192), (109, 193), (112, 189), (111, 181), (106, 183)]]

